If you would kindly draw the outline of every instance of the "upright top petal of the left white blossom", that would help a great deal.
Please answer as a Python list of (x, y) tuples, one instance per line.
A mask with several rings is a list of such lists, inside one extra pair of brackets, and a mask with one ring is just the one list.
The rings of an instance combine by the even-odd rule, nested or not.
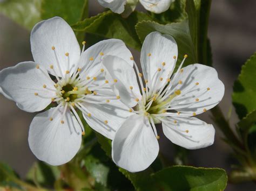
[[(55, 47), (63, 75), (79, 60), (80, 46), (75, 33), (60, 17), (53, 17), (36, 24), (31, 31), (30, 43), (35, 62), (43, 65), (53, 75), (50, 65), (53, 65), (57, 75), (61, 76), (52, 47)], [(66, 53), (69, 53), (69, 65)]]

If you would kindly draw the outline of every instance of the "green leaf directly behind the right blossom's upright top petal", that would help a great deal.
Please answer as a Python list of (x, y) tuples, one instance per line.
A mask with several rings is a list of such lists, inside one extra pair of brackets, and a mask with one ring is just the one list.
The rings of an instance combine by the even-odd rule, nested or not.
[(190, 36), (190, 29), (187, 20), (180, 23), (171, 23), (166, 25), (161, 25), (152, 21), (143, 21), (136, 25), (136, 31), (141, 41), (144, 41), (147, 34), (153, 31), (170, 34), (178, 44), (178, 64), (181, 63), (185, 54), (187, 54), (188, 57), (184, 66), (197, 63), (197, 55)]

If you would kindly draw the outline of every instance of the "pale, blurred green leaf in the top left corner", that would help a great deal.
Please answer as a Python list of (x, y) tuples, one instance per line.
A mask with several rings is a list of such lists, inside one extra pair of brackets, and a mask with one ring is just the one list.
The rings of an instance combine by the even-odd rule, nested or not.
[(41, 0), (8, 0), (0, 2), (0, 13), (31, 30), (41, 20)]

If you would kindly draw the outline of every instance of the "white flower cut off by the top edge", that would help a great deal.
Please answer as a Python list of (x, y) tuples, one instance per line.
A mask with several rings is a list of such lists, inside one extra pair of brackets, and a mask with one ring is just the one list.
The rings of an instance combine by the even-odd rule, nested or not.
[[(137, 3), (134, 0), (98, 0), (99, 4), (104, 6), (104, 8), (109, 8), (115, 13), (122, 13), (125, 9), (125, 4), (129, 1)], [(171, 3), (174, 0), (139, 0), (139, 2), (144, 6), (148, 11), (154, 13), (161, 13), (170, 8)]]

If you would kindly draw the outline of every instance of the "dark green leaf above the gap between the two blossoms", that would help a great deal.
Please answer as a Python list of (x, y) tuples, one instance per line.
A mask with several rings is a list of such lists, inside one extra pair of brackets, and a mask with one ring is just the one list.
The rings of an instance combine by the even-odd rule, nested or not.
[(150, 16), (143, 12), (134, 11), (126, 19), (122, 16), (106, 11), (91, 18), (84, 19), (72, 25), (75, 31), (84, 31), (96, 34), (104, 38), (117, 38), (125, 42), (126, 45), (140, 49), (140, 43), (134, 26), (142, 20), (152, 20)]

